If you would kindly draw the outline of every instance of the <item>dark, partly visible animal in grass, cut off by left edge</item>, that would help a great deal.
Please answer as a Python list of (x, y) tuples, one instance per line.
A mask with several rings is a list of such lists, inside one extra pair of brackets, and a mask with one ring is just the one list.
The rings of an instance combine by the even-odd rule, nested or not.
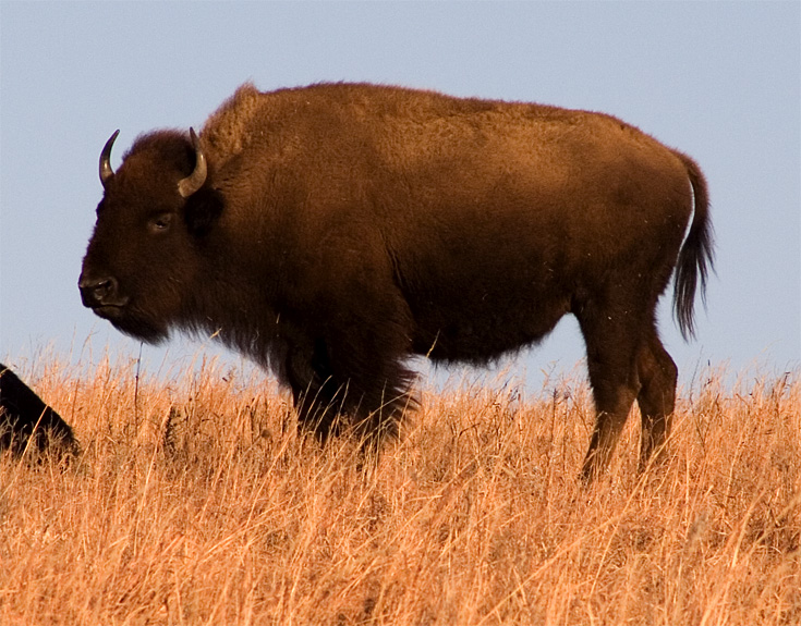
[(0, 364), (0, 451), (75, 454), (77, 447), (72, 428), (61, 416)]

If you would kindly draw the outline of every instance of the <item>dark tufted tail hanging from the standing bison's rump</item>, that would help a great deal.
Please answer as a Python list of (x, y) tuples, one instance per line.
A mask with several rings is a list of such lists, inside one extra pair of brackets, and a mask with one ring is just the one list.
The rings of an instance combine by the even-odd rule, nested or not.
[(695, 205), (692, 225), (681, 246), (673, 278), (673, 314), (681, 335), (687, 341), (695, 336), (693, 305), (699, 279), (701, 279), (701, 299), (706, 306), (706, 278), (714, 269), (714, 244), (709, 219), (709, 197), (704, 174), (695, 161), (687, 155), (676, 152), (676, 156), (681, 159), (687, 169)]

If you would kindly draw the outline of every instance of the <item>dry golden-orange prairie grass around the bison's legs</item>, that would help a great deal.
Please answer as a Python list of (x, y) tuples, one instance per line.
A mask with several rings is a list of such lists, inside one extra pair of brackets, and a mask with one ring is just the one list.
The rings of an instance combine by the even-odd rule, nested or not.
[(424, 392), (359, 471), (257, 376), (135, 372), (20, 372), (83, 453), (0, 459), (0, 624), (801, 623), (798, 372), (682, 392), (644, 476), (633, 415), (588, 489), (580, 381)]

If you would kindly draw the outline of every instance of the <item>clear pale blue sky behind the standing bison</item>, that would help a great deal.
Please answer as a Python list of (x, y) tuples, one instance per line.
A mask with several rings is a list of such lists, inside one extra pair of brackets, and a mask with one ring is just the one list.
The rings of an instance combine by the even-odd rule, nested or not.
[[(199, 126), (244, 81), (262, 89), (373, 81), (600, 110), (691, 155), (708, 179), (717, 275), (697, 367), (801, 363), (799, 2), (8, 2), (0, 5), (0, 359), (139, 346), (81, 306), (101, 187), (139, 133)], [(206, 342), (208, 343), (208, 342)], [(173, 341), (168, 359), (195, 355)], [(82, 352), (83, 349), (83, 352)], [(145, 347), (157, 366), (163, 348)], [(583, 357), (572, 319), (514, 367)]]

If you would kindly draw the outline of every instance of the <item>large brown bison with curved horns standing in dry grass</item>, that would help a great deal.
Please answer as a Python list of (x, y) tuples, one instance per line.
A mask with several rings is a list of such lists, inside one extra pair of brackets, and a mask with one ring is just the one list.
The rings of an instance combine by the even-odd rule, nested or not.
[(570, 312), (597, 409), (583, 475), (634, 400), (642, 463), (664, 444), (677, 369), (656, 303), (676, 269), (692, 334), (712, 265), (681, 152), (605, 114), (366, 84), (244, 85), (199, 136), (143, 135), (117, 172), (116, 137), (80, 289), (119, 330), (213, 333), (321, 439), (345, 424), (375, 443), (410, 404), (408, 357), (486, 364)]

